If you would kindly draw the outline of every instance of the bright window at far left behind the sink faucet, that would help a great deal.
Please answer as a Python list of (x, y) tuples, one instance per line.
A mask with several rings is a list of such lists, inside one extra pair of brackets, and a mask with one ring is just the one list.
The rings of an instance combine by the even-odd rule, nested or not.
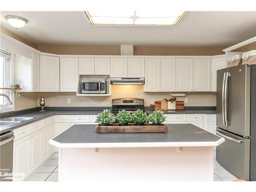
[[(11, 62), (11, 54), (3, 50), (1, 50), (0, 55), (0, 74), (0, 88), (10, 87), (14, 76), (13, 64)], [(13, 101), (14, 91), (1, 89), (0, 93), (6, 94)], [(6, 97), (0, 96), (0, 108), (3, 112), (12, 111), (13, 104), (10, 105)]]

